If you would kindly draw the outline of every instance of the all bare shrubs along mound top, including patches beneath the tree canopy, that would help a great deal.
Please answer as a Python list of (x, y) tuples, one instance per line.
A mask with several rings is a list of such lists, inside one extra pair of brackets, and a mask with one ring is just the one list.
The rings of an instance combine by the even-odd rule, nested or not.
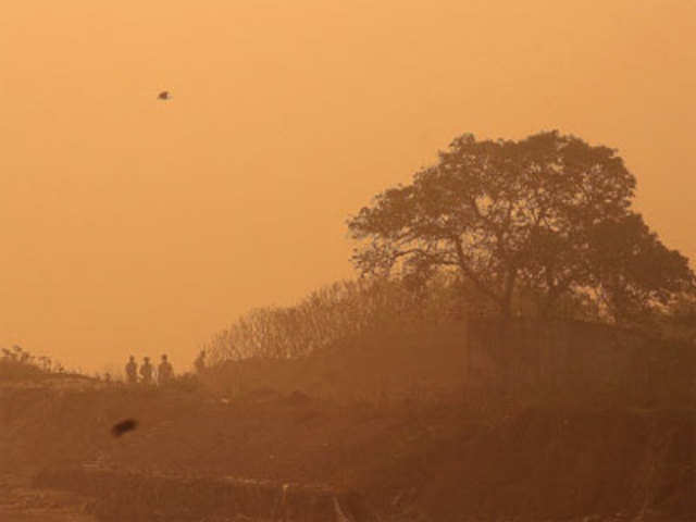
[[(529, 302), (527, 302), (529, 301)], [(518, 296), (515, 315), (533, 316), (533, 299)], [(557, 315), (605, 322), (593, 307), (577, 299), (559, 300)], [(670, 335), (696, 335), (696, 308), (683, 303), (660, 321), (649, 321), (650, 331)], [(442, 272), (424, 282), (409, 274), (390, 278), (343, 281), (313, 291), (290, 307), (268, 307), (249, 311), (203, 346), (211, 364), (247, 358), (290, 359), (314, 351), (347, 346), (356, 339), (401, 324), (415, 326), (464, 318), (493, 315), (476, 289), (462, 283), (455, 272)], [(684, 326), (684, 323), (686, 326)], [(688, 330), (688, 325), (692, 325)], [(688, 332), (692, 334), (688, 334)], [(683, 337), (683, 335), (682, 335)]]

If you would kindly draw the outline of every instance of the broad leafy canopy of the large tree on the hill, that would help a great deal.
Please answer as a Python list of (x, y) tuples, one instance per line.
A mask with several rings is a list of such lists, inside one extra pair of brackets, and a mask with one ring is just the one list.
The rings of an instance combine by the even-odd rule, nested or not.
[(352, 261), (362, 275), (453, 269), (504, 315), (521, 290), (544, 315), (583, 293), (618, 320), (694, 287), (688, 260), (631, 209), (635, 186), (616, 150), (574, 136), (465, 134), (350, 216)]

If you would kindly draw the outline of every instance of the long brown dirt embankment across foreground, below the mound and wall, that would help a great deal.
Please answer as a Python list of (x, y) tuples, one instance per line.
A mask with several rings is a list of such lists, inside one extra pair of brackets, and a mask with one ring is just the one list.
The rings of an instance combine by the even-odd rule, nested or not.
[[(696, 411), (462, 403), (383, 411), (307, 396), (221, 402), (173, 390), (4, 389), (4, 472), (78, 463), (321, 483), (433, 520), (693, 520)], [(141, 420), (113, 438), (111, 424)]]

